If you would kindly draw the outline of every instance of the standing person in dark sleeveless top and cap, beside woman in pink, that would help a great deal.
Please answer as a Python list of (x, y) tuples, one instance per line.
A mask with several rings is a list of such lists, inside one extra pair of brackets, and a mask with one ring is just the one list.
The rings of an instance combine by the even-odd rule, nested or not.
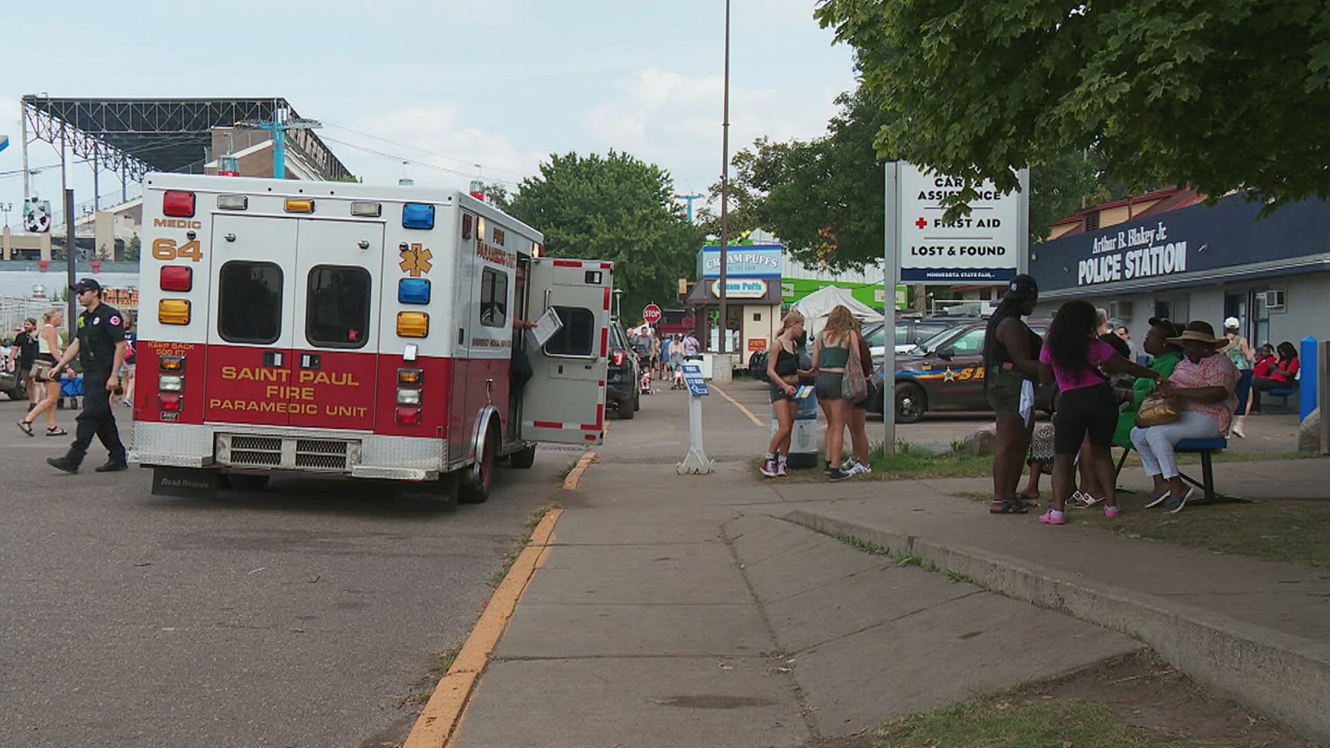
[(994, 409), (998, 451), (994, 455), (994, 514), (1027, 514), (1028, 502), (1016, 495), (1021, 468), (1029, 449), (1035, 419), (1020, 414), (1020, 393), (1025, 382), (1039, 381), (1041, 341), (1021, 317), (1029, 315), (1039, 301), (1035, 278), (1020, 274), (1011, 280), (1001, 303), (988, 318), (984, 331), (984, 391)]

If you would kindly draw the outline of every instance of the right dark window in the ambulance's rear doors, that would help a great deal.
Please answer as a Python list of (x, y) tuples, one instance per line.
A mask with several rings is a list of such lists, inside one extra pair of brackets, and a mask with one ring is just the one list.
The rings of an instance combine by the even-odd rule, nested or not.
[(315, 265), (305, 303), (305, 337), (319, 347), (364, 347), (370, 330), (370, 272)]

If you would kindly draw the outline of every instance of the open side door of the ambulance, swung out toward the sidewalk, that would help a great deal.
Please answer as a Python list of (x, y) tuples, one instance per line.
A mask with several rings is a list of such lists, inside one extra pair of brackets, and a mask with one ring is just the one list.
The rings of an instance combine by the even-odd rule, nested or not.
[(521, 394), (523, 441), (601, 443), (612, 268), (596, 260), (531, 261), (528, 318), (553, 307), (564, 326), (544, 346), (523, 333), (532, 367)]

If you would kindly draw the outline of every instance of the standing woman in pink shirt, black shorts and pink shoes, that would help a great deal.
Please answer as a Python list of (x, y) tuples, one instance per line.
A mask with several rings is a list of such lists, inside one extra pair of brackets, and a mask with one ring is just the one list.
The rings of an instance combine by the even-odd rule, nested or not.
[(1089, 435), (1091, 461), (1104, 491), (1104, 514), (1117, 516), (1113, 474), (1113, 431), (1117, 430), (1117, 398), (1104, 371), (1160, 379), (1161, 374), (1123, 358), (1097, 337), (1097, 311), (1088, 301), (1068, 301), (1048, 326), (1048, 339), (1039, 354), (1041, 379), (1057, 381), (1053, 413), (1053, 508), (1039, 518), (1045, 524), (1065, 524), (1067, 499), (1076, 486), (1076, 453)]

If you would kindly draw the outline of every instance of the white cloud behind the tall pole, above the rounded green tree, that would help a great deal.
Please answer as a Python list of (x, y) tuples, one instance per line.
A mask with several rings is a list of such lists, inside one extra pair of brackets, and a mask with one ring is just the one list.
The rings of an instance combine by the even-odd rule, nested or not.
[[(646, 68), (616, 83), (617, 94), (587, 114), (605, 148), (653, 161), (676, 186), (705, 190), (720, 180), (724, 80)], [(826, 132), (843, 87), (750, 88), (730, 81), (730, 154), (758, 137), (811, 138)]]

